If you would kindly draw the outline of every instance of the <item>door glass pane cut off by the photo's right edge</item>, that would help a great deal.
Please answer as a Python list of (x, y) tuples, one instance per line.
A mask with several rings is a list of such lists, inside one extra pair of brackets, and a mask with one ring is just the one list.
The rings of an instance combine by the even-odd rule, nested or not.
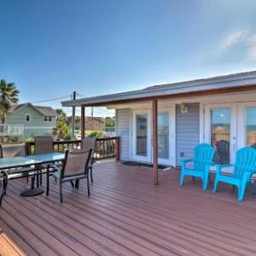
[(256, 108), (246, 108), (246, 144), (256, 148)]

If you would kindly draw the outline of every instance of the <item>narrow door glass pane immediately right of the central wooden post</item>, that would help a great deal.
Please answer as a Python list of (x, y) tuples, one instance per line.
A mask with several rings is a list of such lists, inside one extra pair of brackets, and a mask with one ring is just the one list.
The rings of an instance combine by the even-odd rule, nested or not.
[(169, 113), (158, 114), (158, 157), (169, 159)]

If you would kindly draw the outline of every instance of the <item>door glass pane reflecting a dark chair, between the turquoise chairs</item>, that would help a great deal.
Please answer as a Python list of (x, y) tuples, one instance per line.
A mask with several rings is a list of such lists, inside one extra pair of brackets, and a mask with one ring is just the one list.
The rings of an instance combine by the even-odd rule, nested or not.
[(230, 164), (230, 109), (212, 109), (211, 119), (211, 143), (216, 148), (214, 161)]

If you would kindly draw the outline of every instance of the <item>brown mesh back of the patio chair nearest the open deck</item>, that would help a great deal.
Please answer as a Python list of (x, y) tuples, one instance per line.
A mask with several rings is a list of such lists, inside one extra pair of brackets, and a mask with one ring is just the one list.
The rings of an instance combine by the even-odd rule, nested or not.
[(66, 152), (66, 161), (63, 164), (61, 177), (71, 177), (80, 174), (87, 174), (90, 160), (90, 150), (73, 150)]

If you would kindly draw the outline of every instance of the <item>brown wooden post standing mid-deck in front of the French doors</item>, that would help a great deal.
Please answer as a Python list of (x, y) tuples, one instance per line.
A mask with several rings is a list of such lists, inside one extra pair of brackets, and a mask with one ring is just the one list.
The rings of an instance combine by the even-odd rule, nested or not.
[(153, 131), (153, 178), (158, 184), (158, 137), (157, 137), (157, 100), (152, 101), (152, 131)]

